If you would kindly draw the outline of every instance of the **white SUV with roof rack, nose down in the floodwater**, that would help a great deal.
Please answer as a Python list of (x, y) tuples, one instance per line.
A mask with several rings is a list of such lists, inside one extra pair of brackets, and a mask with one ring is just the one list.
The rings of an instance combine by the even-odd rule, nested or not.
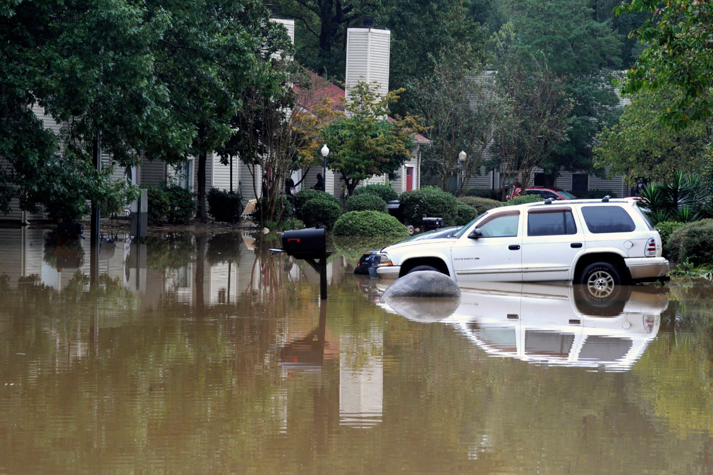
[(376, 272), (440, 271), (471, 281), (573, 281), (608, 295), (664, 278), (661, 237), (635, 202), (570, 200), (491, 209), (443, 239), (385, 247)]

